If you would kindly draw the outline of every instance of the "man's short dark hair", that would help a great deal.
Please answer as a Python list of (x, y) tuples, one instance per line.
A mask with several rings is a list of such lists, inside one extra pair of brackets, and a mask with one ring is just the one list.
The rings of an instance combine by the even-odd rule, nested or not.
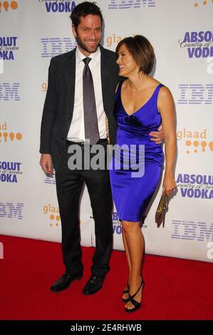
[(80, 24), (80, 17), (85, 17), (89, 14), (98, 15), (102, 25), (103, 16), (101, 14), (100, 8), (96, 5), (95, 2), (84, 1), (75, 7), (70, 16), (71, 21), (76, 29), (78, 28), (78, 24)]

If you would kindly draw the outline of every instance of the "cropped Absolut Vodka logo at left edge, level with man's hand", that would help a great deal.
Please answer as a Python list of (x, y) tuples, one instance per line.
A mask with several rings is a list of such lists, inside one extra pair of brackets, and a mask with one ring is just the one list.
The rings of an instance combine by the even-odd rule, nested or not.
[(21, 163), (0, 162), (0, 182), (18, 182), (18, 175), (22, 175)]

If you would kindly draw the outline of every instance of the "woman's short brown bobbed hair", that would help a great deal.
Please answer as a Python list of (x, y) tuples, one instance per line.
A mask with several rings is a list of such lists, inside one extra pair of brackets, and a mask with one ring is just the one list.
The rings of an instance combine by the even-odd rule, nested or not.
[(123, 40), (118, 43), (115, 50), (117, 57), (119, 56), (118, 51), (120, 46), (123, 44), (125, 44), (129, 53), (133, 56), (135, 62), (139, 66), (138, 73), (143, 72), (149, 74), (152, 71), (155, 61), (155, 53), (150, 41), (142, 35), (123, 38)]

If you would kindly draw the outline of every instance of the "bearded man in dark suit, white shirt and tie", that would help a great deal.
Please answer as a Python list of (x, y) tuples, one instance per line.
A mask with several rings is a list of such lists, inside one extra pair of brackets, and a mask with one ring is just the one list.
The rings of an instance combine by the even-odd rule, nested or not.
[[(109, 174), (107, 169), (70, 170), (68, 160), (72, 154), (68, 153), (68, 147), (78, 145), (84, 155), (86, 140), (90, 140), (91, 145), (102, 145), (106, 153), (107, 135), (110, 143), (115, 144), (113, 106), (119, 77), (115, 53), (100, 46), (103, 17), (99, 7), (88, 1), (78, 4), (71, 20), (77, 48), (52, 58), (49, 66), (41, 122), (40, 165), (46, 173), (52, 173), (53, 167), (56, 170), (63, 263), (66, 267), (66, 272), (51, 290), (66, 289), (83, 275), (78, 211), (85, 182), (95, 220), (96, 248), (92, 275), (83, 293), (93, 294), (101, 289), (109, 271), (113, 236)], [(90, 160), (92, 157), (90, 154)]]

